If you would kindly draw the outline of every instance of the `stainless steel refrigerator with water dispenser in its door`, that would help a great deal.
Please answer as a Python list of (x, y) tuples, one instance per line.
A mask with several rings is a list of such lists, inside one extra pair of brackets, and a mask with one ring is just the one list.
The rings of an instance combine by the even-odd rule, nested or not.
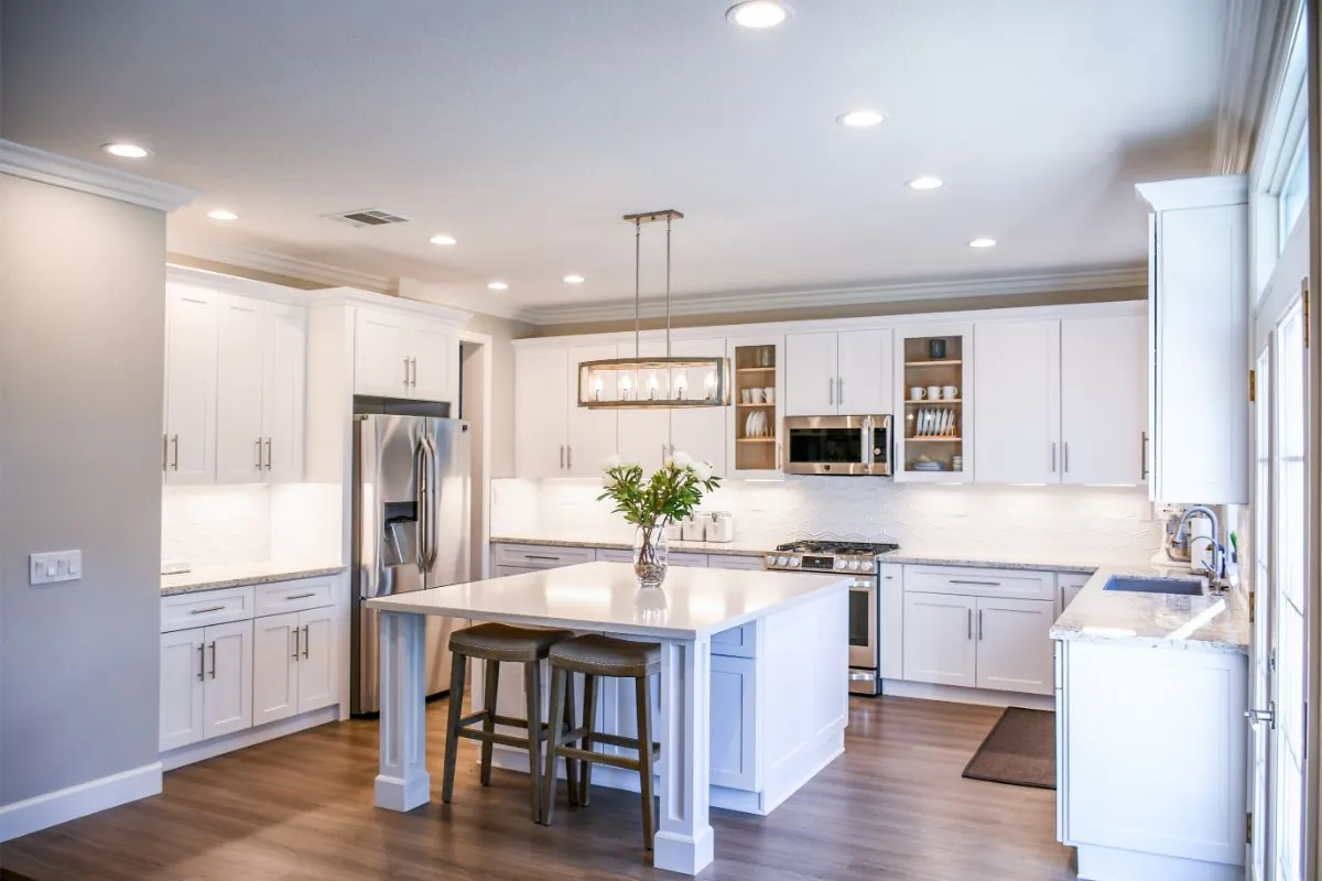
[[(471, 581), (469, 425), (460, 419), (354, 417), (352, 622), (354, 715), (379, 703), (378, 612), (364, 600)], [(449, 688), (449, 634), (427, 618), (427, 693)]]

